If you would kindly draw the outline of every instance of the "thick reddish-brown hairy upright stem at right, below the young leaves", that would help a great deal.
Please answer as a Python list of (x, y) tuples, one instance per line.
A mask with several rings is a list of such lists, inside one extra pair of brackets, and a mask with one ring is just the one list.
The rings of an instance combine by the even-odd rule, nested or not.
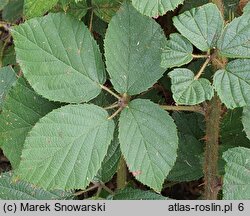
[(221, 117), (221, 101), (215, 95), (206, 107), (206, 147), (204, 160), (204, 181), (206, 200), (216, 200), (220, 190), (218, 176), (219, 132)]

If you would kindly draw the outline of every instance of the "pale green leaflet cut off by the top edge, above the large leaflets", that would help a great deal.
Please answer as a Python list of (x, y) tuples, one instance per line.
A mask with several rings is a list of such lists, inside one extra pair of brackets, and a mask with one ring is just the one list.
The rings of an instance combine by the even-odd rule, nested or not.
[(164, 15), (174, 10), (184, 0), (132, 0), (133, 6), (142, 14), (150, 17)]

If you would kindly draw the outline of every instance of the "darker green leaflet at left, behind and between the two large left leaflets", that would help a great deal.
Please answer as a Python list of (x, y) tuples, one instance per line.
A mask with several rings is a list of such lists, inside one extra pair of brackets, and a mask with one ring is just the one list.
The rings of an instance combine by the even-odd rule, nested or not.
[(57, 104), (35, 93), (21, 77), (9, 91), (0, 115), (0, 146), (14, 169), (19, 166), (28, 132), (55, 108)]

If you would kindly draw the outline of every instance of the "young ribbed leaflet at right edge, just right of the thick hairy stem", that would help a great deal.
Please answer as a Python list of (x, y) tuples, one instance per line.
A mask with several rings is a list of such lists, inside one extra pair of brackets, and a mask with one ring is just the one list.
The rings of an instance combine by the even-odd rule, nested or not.
[(221, 101), (233, 109), (250, 105), (250, 59), (231, 61), (223, 70), (218, 70), (213, 84)]

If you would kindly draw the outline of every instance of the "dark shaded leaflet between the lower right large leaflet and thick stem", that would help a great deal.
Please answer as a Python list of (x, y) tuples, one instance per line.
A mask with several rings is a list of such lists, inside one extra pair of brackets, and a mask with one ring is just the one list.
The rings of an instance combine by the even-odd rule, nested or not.
[(177, 160), (169, 172), (167, 180), (183, 182), (193, 181), (203, 176), (200, 158), (204, 146), (195, 137), (179, 133)]

